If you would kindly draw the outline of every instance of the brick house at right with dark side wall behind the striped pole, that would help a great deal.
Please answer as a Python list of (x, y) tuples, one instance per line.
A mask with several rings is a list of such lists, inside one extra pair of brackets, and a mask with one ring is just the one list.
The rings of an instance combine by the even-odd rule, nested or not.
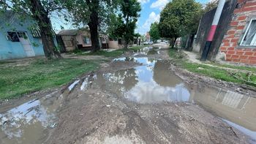
[[(197, 53), (203, 52), (215, 12), (207, 12), (200, 20), (193, 44)], [(256, 64), (256, 0), (226, 1), (208, 59), (219, 56), (225, 61)]]

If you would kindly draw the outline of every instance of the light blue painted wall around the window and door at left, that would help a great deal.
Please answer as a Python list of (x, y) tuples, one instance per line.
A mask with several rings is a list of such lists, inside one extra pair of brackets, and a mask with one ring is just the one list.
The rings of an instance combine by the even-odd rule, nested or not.
[[(31, 42), (31, 47), (34, 50), (35, 56), (44, 55), (42, 40), (32, 37), (31, 32), (28, 29), (28, 27), (32, 23), (31, 20), (25, 20), (25, 22), (20, 22), (20, 20), (15, 17), (13, 18), (10, 26), (6, 26), (5, 21), (7, 21), (5, 18), (1, 18), (0, 20), (0, 60), (26, 57), (26, 53), (20, 42), (12, 42), (7, 40), (7, 31), (25, 31), (29, 41)], [(23, 26), (21, 26), (19, 23), (22, 23)]]

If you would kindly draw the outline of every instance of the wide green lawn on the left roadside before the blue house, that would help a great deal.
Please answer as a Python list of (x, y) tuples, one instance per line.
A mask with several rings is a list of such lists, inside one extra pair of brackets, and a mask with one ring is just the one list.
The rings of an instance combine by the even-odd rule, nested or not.
[(0, 99), (55, 88), (98, 67), (99, 61), (69, 58), (52, 61), (39, 59), (28, 66), (0, 67)]

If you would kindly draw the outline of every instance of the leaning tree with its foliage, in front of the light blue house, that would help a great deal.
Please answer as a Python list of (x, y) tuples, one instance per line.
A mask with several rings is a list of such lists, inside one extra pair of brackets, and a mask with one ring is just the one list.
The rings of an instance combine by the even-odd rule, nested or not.
[(50, 15), (52, 12), (60, 11), (60, 0), (7, 0), (1, 3), (2, 11), (11, 10), (17, 13), (20, 18), (31, 17), (36, 20), (41, 31), (42, 45), (45, 57), (61, 58), (59, 50), (53, 41), (53, 30), (50, 23)]

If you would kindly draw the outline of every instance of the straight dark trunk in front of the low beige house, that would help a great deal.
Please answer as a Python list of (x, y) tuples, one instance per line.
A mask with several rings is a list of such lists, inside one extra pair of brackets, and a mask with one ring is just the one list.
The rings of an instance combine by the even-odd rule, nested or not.
[(90, 4), (89, 10), (91, 12), (90, 15), (90, 22), (89, 22), (89, 29), (91, 33), (91, 47), (92, 50), (95, 52), (97, 50), (100, 50), (99, 46), (99, 32), (98, 32), (98, 26), (99, 26), (99, 0), (93, 0), (93, 1), (86, 1)]

